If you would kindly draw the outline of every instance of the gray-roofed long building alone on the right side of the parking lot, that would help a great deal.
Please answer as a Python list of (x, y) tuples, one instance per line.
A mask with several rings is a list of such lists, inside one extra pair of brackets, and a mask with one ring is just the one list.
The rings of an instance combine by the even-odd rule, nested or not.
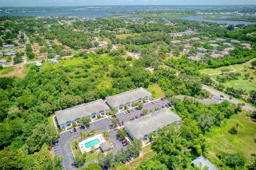
[(173, 123), (180, 124), (181, 118), (170, 109), (164, 108), (127, 122), (124, 127), (132, 140), (139, 139), (143, 141), (148, 139), (148, 135), (151, 132), (157, 132), (158, 128), (169, 126)]

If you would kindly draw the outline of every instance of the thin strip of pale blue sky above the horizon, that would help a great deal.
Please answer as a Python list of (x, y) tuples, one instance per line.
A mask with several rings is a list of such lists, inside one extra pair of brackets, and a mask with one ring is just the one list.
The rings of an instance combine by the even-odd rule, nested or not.
[(255, 0), (0, 0), (1, 6), (256, 5)]

